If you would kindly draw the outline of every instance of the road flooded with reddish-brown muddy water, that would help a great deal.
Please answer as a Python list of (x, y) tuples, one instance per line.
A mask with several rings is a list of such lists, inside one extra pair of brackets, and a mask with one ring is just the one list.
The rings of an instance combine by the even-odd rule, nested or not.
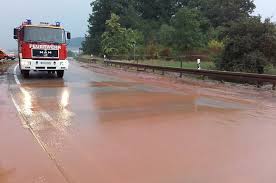
[(77, 63), (0, 86), (1, 183), (276, 181), (275, 93)]

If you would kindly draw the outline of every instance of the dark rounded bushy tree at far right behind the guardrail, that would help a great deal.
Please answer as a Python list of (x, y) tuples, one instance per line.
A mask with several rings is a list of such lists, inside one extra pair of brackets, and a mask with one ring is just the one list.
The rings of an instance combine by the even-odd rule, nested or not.
[(231, 24), (225, 32), (225, 49), (216, 61), (221, 70), (264, 73), (276, 56), (275, 25), (261, 17), (250, 17)]

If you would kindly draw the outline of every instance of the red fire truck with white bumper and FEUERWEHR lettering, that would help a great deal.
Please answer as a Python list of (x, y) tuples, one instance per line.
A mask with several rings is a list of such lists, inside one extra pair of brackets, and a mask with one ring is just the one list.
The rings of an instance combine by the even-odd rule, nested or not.
[(19, 68), (23, 77), (29, 77), (30, 71), (48, 71), (62, 78), (68, 69), (65, 32), (60, 22), (54, 25), (40, 23), (33, 25), (31, 20), (14, 29), (14, 39), (18, 40)]

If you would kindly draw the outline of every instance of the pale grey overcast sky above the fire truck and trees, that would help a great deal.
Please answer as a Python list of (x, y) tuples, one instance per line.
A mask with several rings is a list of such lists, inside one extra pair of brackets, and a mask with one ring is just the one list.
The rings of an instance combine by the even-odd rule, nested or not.
[[(91, 13), (92, 0), (1, 0), (0, 11), (0, 48), (13, 49), (13, 28), (25, 19), (33, 22), (62, 22), (73, 37), (84, 36), (87, 19)], [(276, 21), (275, 0), (255, 0), (255, 14), (272, 17)]]

